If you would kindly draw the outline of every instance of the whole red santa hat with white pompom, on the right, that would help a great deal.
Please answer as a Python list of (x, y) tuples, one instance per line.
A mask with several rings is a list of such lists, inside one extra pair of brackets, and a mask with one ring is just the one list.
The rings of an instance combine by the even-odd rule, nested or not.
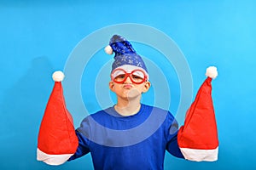
[(217, 68), (207, 68), (207, 79), (196, 94), (180, 127), (177, 142), (185, 159), (190, 161), (218, 160), (218, 133), (212, 105), (212, 79), (218, 76)]

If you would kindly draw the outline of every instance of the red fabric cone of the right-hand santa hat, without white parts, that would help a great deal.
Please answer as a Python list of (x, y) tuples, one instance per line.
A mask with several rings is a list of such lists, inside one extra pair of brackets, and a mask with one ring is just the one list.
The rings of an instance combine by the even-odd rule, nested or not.
[(207, 77), (186, 113), (184, 125), (177, 135), (180, 148), (212, 150), (218, 147), (211, 82), (212, 78)]

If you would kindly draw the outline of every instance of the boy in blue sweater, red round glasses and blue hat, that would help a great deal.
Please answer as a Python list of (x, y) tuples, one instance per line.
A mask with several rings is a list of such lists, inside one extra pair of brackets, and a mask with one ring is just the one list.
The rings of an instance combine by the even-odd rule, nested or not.
[[(163, 169), (165, 150), (183, 158), (177, 146), (177, 122), (170, 112), (140, 103), (142, 94), (150, 88), (150, 82), (146, 65), (131, 47), (131, 43), (124, 37), (115, 35), (111, 38), (110, 46), (115, 53), (115, 60), (109, 88), (116, 94), (117, 104), (84, 119), (76, 131), (79, 138), (78, 150), (69, 161), (90, 152), (95, 169)], [(150, 115), (155, 114), (160, 115), (155, 116), (156, 118), (164, 116), (165, 120), (147, 139), (123, 147), (108, 146), (108, 143), (117, 143), (114, 140), (119, 140), (118, 143), (122, 143), (123, 140), (112, 138), (114, 135), (108, 136), (108, 128), (129, 130), (140, 126)], [(103, 132), (93, 129), (95, 123), (91, 122), (91, 118), (105, 127), (102, 128)], [(151, 125), (147, 128), (153, 127), (154, 125)], [(146, 128), (144, 130), (146, 131)], [(95, 138), (93, 135), (99, 135), (101, 139), (97, 141), (106, 143), (92, 142), (91, 139)], [(125, 142), (133, 140), (132, 138), (137, 136), (130, 134), (126, 136)]]

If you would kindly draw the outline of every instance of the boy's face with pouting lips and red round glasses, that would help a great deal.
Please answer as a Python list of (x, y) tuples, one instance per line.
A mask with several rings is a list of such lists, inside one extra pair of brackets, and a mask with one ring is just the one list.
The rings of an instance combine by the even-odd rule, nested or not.
[(150, 82), (142, 70), (116, 69), (111, 74), (109, 88), (117, 94), (118, 98), (133, 99), (146, 93), (150, 88)]

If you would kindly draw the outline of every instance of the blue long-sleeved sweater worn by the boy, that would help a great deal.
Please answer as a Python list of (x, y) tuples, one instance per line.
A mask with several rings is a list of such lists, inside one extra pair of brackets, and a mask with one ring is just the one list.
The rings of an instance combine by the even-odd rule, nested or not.
[(110, 107), (81, 122), (79, 147), (68, 161), (90, 152), (96, 170), (163, 169), (166, 150), (183, 158), (177, 131), (169, 111), (142, 105), (136, 115), (120, 116)]

